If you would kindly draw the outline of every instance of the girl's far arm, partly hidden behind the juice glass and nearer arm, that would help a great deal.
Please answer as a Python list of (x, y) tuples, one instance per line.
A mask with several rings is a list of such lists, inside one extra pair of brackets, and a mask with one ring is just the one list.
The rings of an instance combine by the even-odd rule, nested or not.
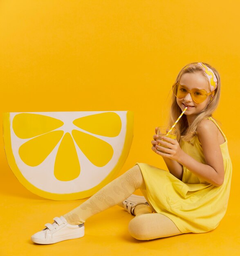
[[(156, 133), (156, 135), (153, 136), (154, 141), (152, 141), (152, 145), (153, 145), (152, 150), (154, 152), (156, 152), (155, 146), (158, 144), (157, 139), (159, 138), (159, 136), (157, 135), (157, 127), (155, 128), (155, 133)], [(164, 159), (166, 166), (168, 167), (168, 171), (171, 174), (173, 174), (176, 178), (178, 178), (179, 180), (182, 180), (182, 175), (183, 175), (182, 165), (179, 164), (177, 161), (172, 160), (167, 157), (163, 157), (163, 159)]]

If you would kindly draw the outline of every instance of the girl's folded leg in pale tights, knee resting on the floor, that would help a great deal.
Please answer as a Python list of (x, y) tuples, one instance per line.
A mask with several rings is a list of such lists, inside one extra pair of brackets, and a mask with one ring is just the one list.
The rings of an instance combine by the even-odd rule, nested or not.
[[(140, 206), (140, 204), (139, 204)], [(133, 218), (128, 225), (128, 230), (138, 240), (151, 240), (155, 238), (176, 236), (182, 233), (172, 220), (161, 213), (142, 212)]]

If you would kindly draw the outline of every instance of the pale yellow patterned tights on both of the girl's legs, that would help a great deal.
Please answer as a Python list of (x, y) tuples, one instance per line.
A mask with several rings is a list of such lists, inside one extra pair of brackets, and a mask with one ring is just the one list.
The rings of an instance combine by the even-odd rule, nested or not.
[[(83, 204), (79, 205), (63, 217), (72, 225), (78, 225), (96, 213), (119, 204), (132, 193), (140, 189), (146, 197), (146, 186), (138, 165), (123, 173)], [(148, 201), (148, 200), (147, 200)], [(128, 226), (130, 234), (139, 240), (150, 240), (166, 236), (182, 234), (172, 220), (160, 213), (153, 213), (154, 209), (146, 204), (139, 204), (134, 209), (135, 218)]]

